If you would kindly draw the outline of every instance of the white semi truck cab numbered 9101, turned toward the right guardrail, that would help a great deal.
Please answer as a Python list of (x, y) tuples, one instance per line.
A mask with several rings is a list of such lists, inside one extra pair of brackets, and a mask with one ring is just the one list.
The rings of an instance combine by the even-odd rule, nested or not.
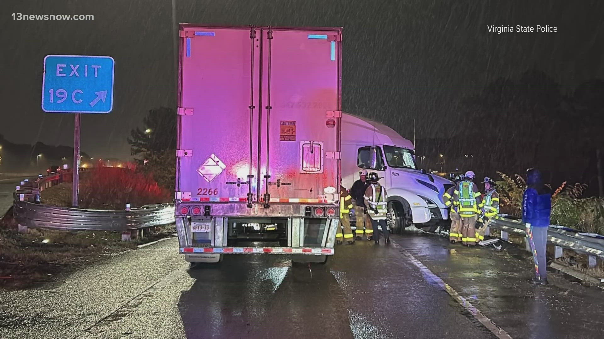
[(454, 183), (417, 167), (413, 142), (392, 128), (342, 113), (342, 184), (351, 188), (359, 171), (376, 172), (388, 193), (388, 227), (434, 231), (450, 224), (442, 195)]

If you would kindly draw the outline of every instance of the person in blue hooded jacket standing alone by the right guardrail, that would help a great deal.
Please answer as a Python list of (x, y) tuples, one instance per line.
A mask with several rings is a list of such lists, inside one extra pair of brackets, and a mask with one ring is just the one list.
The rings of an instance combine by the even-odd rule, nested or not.
[(536, 277), (533, 284), (547, 284), (547, 228), (550, 226), (551, 193), (543, 185), (541, 173), (536, 168), (527, 170), (527, 188), (522, 195), (522, 221), (530, 223), (537, 252), (538, 270), (541, 280)]

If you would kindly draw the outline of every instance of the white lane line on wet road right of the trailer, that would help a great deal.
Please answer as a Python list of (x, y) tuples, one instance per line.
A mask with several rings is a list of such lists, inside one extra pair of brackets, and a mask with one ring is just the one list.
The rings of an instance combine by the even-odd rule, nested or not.
[(406, 256), (407, 259), (409, 259), (409, 261), (411, 261), (414, 265), (416, 265), (416, 267), (419, 268), (420, 271), (422, 271), (424, 276), (429, 276), (432, 280), (434, 280), (434, 282), (437, 285), (439, 285), (440, 288), (445, 290), (446, 293), (449, 293), (449, 296), (451, 296), (453, 299), (455, 299), (455, 301), (457, 301), (463, 308), (467, 309), (468, 312), (470, 312), (472, 315), (474, 315), (474, 318), (476, 320), (478, 320), (478, 322), (483, 324), (484, 327), (489, 329), (489, 331), (491, 331), (493, 334), (495, 334), (496, 337), (501, 338), (501, 339), (513, 339), (506, 331), (504, 331), (504, 329), (495, 325), (495, 323), (493, 323), (492, 320), (487, 318), (486, 315), (484, 315), (482, 312), (480, 312), (480, 310), (478, 308), (475, 308), (474, 306), (472, 306), (472, 304), (469, 301), (467, 301), (466, 298), (460, 296), (460, 294), (457, 293), (457, 291), (455, 291), (451, 286), (446, 284), (446, 282), (444, 282), (443, 279), (440, 279), (439, 276), (432, 273), (432, 271), (428, 267), (423, 265), (422, 262), (417, 260), (417, 258), (414, 257), (411, 253), (407, 252), (405, 249), (400, 247), (400, 245), (394, 241), (392, 242), (392, 244), (394, 245), (394, 247), (397, 247), (400, 250), (400, 252), (404, 256)]

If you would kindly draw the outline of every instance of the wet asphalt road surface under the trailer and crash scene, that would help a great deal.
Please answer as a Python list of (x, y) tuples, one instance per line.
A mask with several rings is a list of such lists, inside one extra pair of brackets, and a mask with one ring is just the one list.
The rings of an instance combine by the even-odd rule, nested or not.
[(512, 338), (602, 338), (604, 292), (556, 276), (529, 285), (519, 250), (393, 239), (338, 246), (310, 270), (278, 255), (190, 269), (169, 239), (0, 292), (0, 338), (496, 338), (409, 254)]

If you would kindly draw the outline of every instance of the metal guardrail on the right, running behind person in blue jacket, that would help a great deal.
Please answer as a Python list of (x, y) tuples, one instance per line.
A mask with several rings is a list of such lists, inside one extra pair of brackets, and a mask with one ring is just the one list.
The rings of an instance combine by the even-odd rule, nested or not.
[[(524, 223), (515, 218), (499, 215), (489, 223), (489, 227), (501, 230), (503, 232), (514, 233), (516, 235), (526, 236)], [(507, 235), (502, 233), (502, 238)], [(569, 227), (552, 225), (548, 227), (547, 232), (548, 243), (565, 249), (573, 250), (577, 253), (582, 253), (590, 256), (597, 256), (604, 259), (604, 239), (597, 236), (590, 236), (588, 233), (582, 233), (579, 230), (574, 230)], [(562, 251), (556, 249), (556, 258)]]

